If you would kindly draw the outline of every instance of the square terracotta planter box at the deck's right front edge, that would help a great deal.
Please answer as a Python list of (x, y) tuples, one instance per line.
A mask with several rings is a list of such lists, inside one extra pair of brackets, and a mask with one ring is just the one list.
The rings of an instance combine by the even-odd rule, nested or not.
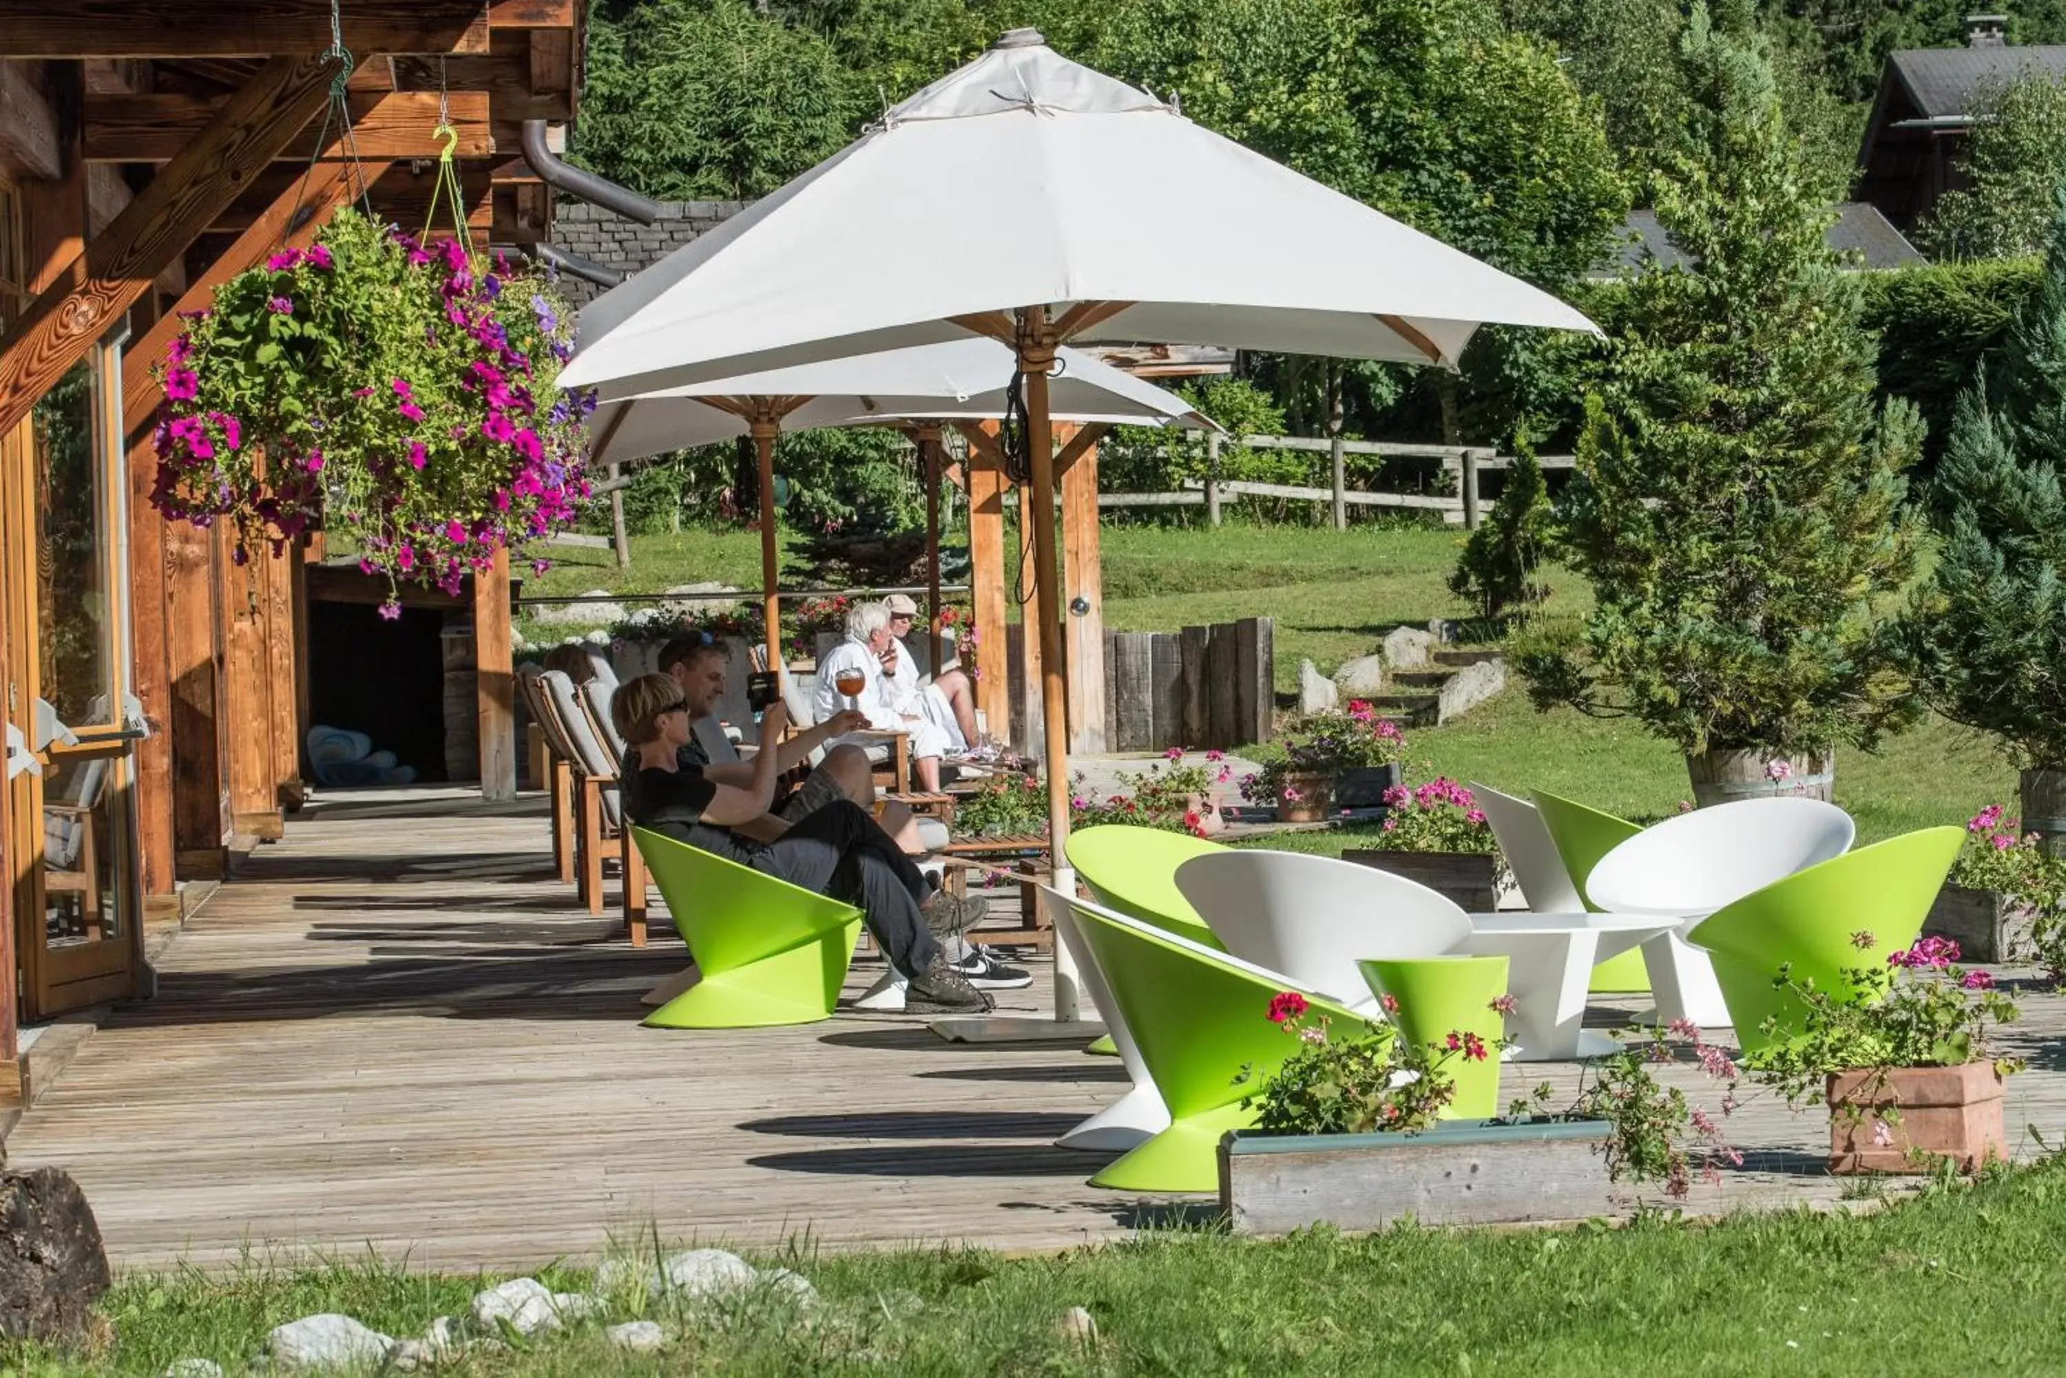
[[(2002, 1076), (1992, 1062), (1830, 1072), (1826, 1095), (1835, 1173), (1932, 1171), (1944, 1157), (1973, 1171), (1990, 1157), (2008, 1159)], [(1909, 1149), (1930, 1157), (1909, 1161)]]

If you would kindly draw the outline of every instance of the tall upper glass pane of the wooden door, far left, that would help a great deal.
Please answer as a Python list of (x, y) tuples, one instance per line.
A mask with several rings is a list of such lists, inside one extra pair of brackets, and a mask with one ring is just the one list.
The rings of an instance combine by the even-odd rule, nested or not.
[[(58, 380), (31, 411), (35, 599), (43, 704), (37, 735), (120, 719), (114, 694), (114, 612), (107, 589), (109, 494), (101, 481), (101, 372), (95, 357)], [(50, 721), (54, 719), (54, 721)], [(39, 742), (45, 744), (45, 742)]]

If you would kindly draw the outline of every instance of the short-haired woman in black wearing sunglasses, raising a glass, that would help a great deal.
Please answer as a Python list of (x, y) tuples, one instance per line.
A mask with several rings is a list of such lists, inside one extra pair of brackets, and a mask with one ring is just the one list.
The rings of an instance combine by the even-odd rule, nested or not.
[[(636, 777), (622, 787), (632, 822), (750, 866), (818, 895), (859, 907), (882, 954), (911, 985), (905, 1008), (926, 1012), (990, 1010), (926, 928), (938, 899), (926, 874), (859, 804), (839, 800), (806, 814), (771, 843), (742, 845), (729, 828), (760, 818), (775, 800), (777, 754), (756, 752), (746, 785), (721, 785), (682, 760), (688, 700), (671, 676), (638, 676), (618, 686), (609, 717), (630, 746)], [(775, 742), (787, 723), (781, 702), (760, 717), (760, 740)]]

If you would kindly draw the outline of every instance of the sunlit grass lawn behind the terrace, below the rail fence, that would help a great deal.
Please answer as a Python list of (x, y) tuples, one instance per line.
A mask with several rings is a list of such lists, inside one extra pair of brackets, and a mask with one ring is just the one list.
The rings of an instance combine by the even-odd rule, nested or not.
[[(1105, 624), (1163, 632), (1275, 618), (1277, 688), (1291, 690), (1300, 657), (1333, 669), (1370, 653), (1399, 624), (1463, 616), (1465, 605), (1446, 585), (1461, 541), (1459, 531), (1434, 529), (1107, 527)], [(525, 593), (659, 591), (713, 578), (750, 589), (758, 576), (758, 535), (684, 531), (636, 537), (630, 570), (618, 570), (609, 552), (568, 550)], [(1574, 574), (1552, 572), (1549, 581), (1560, 612), (1591, 605)], [(1413, 731), (1407, 771), (1413, 779), (1450, 775), (1519, 793), (1547, 789), (1636, 820), (1663, 818), (1692, 793), (1678, 752), (1634, 723), (1568, 709), (1535, 713), (1519, 684), (1457, 723)], [(1876, 756), (1837, 752), (1837, 802), (1857, 818), (1859, 841), (1965, 822), (1983, 804), (2012, 804), (2014, 789), (2014, 771), (1985, 740), (1936, 719), (1886, 742)], [(1333, 831), (1273, 845), (1339, 851), (1357, 837)]]

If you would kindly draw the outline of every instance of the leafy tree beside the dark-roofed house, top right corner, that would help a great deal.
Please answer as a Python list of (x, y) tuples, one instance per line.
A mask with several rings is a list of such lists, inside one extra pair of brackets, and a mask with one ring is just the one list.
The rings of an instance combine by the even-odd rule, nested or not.
[(1917, 227), (1932, 258), (2018, 258), (2043, 252), (2054, 190), (2066, 167), (2066, 81), (2025, 72), (1973, 95), (1973, 132), (1959, 171)]

